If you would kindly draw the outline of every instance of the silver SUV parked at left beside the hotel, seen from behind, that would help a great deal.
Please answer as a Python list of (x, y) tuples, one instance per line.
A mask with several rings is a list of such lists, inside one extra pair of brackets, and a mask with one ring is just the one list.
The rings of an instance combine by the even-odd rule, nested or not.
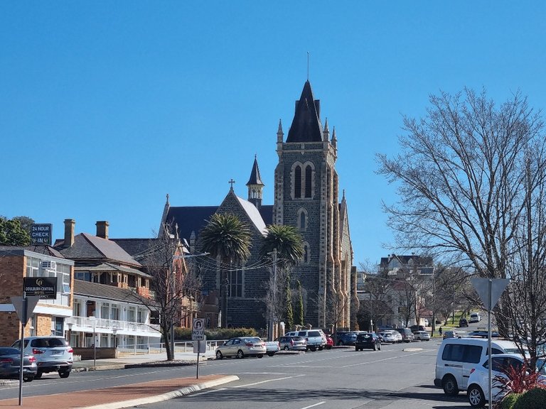
[[(11, 347), (21, 349), (21, 339)], [(73, 349), (63, 337), (28, 337), (25, 338), (23, 351), (36, 358), (35, 379), (40, 379), (43, 373), (58, 372), (61, 378), (68, 378), (74, 361)]]

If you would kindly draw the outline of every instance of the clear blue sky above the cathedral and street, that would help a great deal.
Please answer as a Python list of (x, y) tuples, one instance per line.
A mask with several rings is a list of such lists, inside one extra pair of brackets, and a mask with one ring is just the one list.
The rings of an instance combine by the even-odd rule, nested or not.
[(247, 197), (255, 154), (273, 202), (307, 76), (338, 137), (355, 264), (392, 252), (402, 114), (429, 94), (485, 87), (546, 102), (544, 1), (2, 1), (0, 214), (149, 237), (171, 205)]

